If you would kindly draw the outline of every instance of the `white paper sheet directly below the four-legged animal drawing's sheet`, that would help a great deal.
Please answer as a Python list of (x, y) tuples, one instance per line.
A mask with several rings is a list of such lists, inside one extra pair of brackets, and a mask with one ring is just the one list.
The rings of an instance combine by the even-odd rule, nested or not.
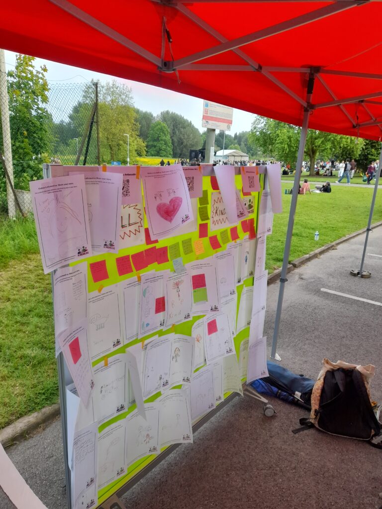
[(112, 419), (129, 406), (129, 373), (126, 355), (113, 355), (107, 362), (93, 367), (93, 402), (99, 425)]

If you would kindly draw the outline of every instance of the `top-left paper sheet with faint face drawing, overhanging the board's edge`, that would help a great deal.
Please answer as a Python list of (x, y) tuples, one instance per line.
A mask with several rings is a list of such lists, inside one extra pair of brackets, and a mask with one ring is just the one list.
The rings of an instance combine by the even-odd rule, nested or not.
[(29, 184), (44, 273), (92, 256), (84, 176)]

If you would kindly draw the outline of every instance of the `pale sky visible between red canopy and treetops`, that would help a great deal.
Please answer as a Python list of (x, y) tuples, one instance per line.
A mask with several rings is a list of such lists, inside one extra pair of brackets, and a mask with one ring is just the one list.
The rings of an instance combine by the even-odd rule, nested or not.
[[(16, 54), (12, 51), (5, 52), (5, 61), (7, 70), (13, 69), (15, 65)], [(91, 81), (98, 79), (99, 81), (112, 80), (113, 76), (101, 74), (87, 69), (80, 69), (58, 62), (51, 62), (49, 60), (36, 59), (35, 67), (46, 65), (48, 72), (46, 78), (49, 84), (53, 83), (81, 83), (84, 81)], [(187, 120), (190, 120), (199, 131), (202, 129), (202, 99), (179, 94), (171, 90), (160, 89), (138, 81), (131, 81), (123, 78), (114, 78), (117, 81), (126, 83), (131, 89), (134, 99), (135, 107), (147, 111), (151, 111), (154, 115), (159, 114), (161, 111), (169, 109), (182, 115)], [(240, 131), (249, 131), (255, 115), (242, 111), (240, 109), (233, 110), (233, 121), (230, 134)]]

